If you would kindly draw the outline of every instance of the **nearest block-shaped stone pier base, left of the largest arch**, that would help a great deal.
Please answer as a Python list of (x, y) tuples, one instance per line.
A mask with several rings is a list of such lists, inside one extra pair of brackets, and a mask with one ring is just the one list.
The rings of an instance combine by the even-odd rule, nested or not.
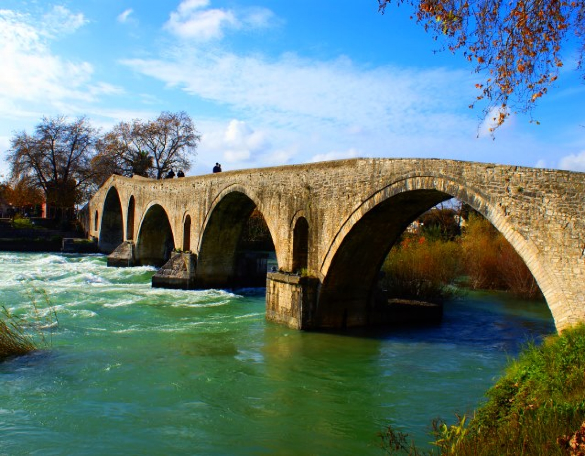
[(266, 277), (266, 319), (292, 329), (310, 329), (318, 292), (317, 278), (269, 272)]

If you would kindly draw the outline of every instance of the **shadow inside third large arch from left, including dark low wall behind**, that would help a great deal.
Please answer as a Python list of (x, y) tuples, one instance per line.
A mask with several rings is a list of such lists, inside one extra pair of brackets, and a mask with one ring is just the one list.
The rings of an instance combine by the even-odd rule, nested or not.
[[(231, 185), (216, 197), (199, 237), (197, 288), (266, 286), (266, 259), (242, 251), (242, 234), (257, 208), (240, 185)], [(268, 226), (274, 250), (270, 224), (261, 212), (260, 215)]]

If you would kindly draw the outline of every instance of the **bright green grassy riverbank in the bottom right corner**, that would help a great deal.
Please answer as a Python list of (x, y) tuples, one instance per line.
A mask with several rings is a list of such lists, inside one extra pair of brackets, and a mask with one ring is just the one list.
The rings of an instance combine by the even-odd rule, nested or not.
[(388, 429), (381, 435), (386, 454), (584, 455), (585, 325), (526, 347), (486, 395), (472, 419), (433, 423), (434, 450)]

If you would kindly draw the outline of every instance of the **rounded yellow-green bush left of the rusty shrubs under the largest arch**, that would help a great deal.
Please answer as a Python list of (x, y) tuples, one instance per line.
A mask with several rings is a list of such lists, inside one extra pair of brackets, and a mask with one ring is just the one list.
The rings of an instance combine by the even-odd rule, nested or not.
[(405, 237), (382, 267), (383, 286), (393, 298), (436, 302), (452, 297), (461, 274), (461, 249), (455, 241)]

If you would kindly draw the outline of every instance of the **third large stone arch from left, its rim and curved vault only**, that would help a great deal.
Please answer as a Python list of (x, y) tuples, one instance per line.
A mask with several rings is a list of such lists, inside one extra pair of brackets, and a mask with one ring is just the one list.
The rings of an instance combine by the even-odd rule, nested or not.
[(270, 219), (264, 215), (254, 195), (250, 195), (241, 185), (228, 186), (216, 196), (199, 233), (197, 246), (199, 288), (229, 288), (239, 285), (236, 280), (238, 244), (242, 230), (254, 209), (258, 209), (264, 217), (276, 247)]

